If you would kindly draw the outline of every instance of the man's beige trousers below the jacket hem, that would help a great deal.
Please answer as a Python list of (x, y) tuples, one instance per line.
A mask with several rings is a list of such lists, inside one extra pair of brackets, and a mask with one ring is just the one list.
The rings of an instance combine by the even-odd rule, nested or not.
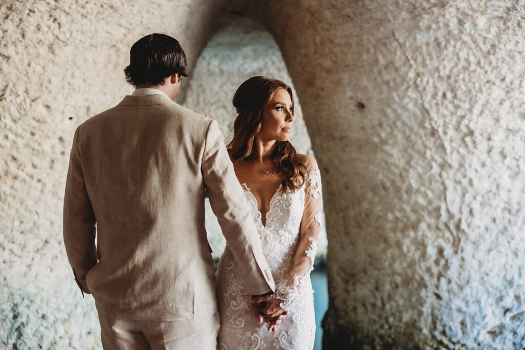
[(104, 350), (215, 350), (219, 313), (177, 321), (123, 320), (98, 310)]

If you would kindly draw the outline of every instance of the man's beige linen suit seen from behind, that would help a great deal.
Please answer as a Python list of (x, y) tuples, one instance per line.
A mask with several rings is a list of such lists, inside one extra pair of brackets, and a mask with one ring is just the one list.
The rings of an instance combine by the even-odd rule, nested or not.
[[(179, 348), (215, 344), (219, 322), (205, 193), (246, 291), (274, 290), (215, 121), (152, 94), (126, 96), (78, 127), (66, 183), (64, 242), (79, 287), (95, 298), (103, 343), (105, 323), (130, 320), (164, 322), (161, 328), (182, 321), (188, 347), (176, 343)], [(208, 322), (209, 334), (197, 328), (188, 337), (192, 321), (196, 327)], [(159, 336), (140, 332), (148, 341)]]

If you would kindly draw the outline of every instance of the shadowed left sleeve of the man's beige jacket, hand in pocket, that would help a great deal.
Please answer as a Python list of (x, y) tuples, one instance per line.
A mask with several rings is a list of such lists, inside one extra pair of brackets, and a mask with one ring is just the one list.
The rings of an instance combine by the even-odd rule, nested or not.
[(97, 263), (95, 214), (86, 190), (75, 131), (64, 195), (64, 245), (82, 295), (90, 294), (86, 274)]

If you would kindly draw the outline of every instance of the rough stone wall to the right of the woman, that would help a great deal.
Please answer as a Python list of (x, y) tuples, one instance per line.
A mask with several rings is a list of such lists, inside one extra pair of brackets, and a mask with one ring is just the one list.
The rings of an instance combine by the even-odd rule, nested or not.
[(260, 11), (315, 130), (327, 348), (525, 347), (523, 5)]

